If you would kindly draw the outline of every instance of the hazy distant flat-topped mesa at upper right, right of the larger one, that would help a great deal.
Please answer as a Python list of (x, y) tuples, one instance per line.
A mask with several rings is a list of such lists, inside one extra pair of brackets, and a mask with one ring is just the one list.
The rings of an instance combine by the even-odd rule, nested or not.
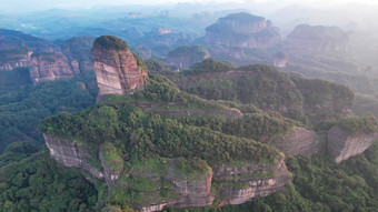
[(348, 42), (349, 34), (337, 27), (300, 24), (288, 34), (282, 47), (290, 54), (306, 57), (345, 51)]

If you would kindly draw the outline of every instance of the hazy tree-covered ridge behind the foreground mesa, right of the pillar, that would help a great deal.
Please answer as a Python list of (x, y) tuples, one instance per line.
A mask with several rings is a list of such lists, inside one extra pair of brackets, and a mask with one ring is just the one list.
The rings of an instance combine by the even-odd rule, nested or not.
[(233, 68), (206, 60), (195, 64), (186, 77), (166, 77), (206, 99), (237, 100), (311, 124), (348, 114), (354, 103), (354, 92), (344, 85), (287, 74), (263, 64)]

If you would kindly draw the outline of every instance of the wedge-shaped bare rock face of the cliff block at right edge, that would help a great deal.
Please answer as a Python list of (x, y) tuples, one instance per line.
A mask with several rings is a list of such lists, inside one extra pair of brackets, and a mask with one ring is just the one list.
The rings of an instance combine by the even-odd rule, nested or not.
[(362, 153), (378, 139), (378, 133), (351, 134), (336, 125), (328, 131), (328, 154), (336, 163)]

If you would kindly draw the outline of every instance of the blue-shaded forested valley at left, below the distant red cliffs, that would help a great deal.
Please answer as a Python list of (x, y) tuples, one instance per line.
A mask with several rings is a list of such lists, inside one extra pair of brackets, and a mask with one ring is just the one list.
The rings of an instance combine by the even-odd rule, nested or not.
[[(0, 151), (17, 141), (42, 143), (37, 131), (42, 119), (63, 111), (78, 112), (93, 104), (97, 95), (97, 85), (91, 83), (93, 75), (83, 79), (87, 80), (32, 87), (28, 69), (0, 72)], [(86, 90), (81, 89), (82, 84)]]

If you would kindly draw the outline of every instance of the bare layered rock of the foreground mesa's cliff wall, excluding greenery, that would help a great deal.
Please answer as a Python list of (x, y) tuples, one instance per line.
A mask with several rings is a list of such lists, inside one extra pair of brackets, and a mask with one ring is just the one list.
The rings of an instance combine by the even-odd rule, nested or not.
[[(142, 202), (132, 203), (135, 209), (141, 212), (162, 211), (166, 208), (192, 208), (212, 205), (215, 201), (215, 192), (211, 185), (215, 186), (220, 194), (220, 205), (241, 204), (250, 201), (253, 198), (270, 195), (281, 189), (290, 181), (291, 174), (285, 164), (285, 157), (277, 155), (273, 164), (256, 164), (253, 162), (240, 161), (238, 165), (233, 164), (213, 164), (208, 166), (208, 170), (185, 174), (178, 171), (177, 160), (167, 159), (167, 162), (161, 168), (161, 173), (156, 172), (152, 168), (131, 169), (130, 173), (121, 173), (122, 169), (115, 170), (106, 165), (102, 160), (102, 152), (99, 152), (103, 171), (99, 171), (88, 161), (93, 160), (87, 153), (87, 149), (91, 148), (87, 144), (78, 144), (74, 141), (56, 139), (51, 135), (43, 134), (46, 144), (50, 150), (50, 155), (63, 164), (64, 166), (76, 166), (87, 170), (98, 179), (103, 179), (107, 183), (116, 184), (118, 188), (128, 190), (130, 185), (126, 178), (143, 178), (148, 181), (156, 182), (156, 186), (149, 189), (138, 189), (142, 196)], [(200, 160), (200, 159), (198, 159)], [(226, 162), (227, 163), (227, 162)], [(260, 173), (260, 175), (256, 175)], [(270, 175), (265, 175), (270, 173)], [(262, 174), (262, 175), (261, 175)], [(122, 180), (123, 179), (123, 180)], [(166, 181), (170, 186), (161, 185)], [(240, 188), (240, 183), (246, 186)], [(171, 198), (159, 198), (155, 195), (160, 191), (166, 190), (175, 193)]]

